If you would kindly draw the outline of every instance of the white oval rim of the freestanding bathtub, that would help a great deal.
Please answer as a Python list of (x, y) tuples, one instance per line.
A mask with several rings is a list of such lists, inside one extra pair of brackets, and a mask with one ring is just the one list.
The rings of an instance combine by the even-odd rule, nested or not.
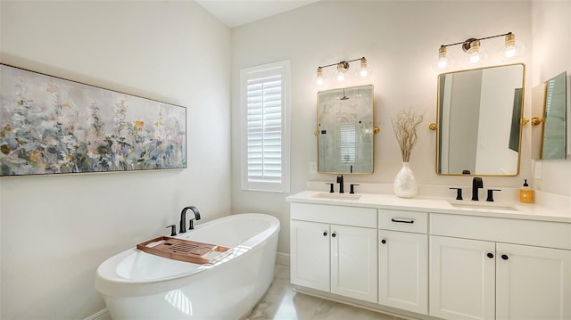
[[(181, 273), (178, 275), (170, 275), (167, 277), (155, 278), (155, 279), (144, 279), (144, 280), (128, 279), (119, 275), (116, 271), (121, 261), (123, 261), (123, 259), (125, 258), (130, 257), (131, 255), (149, 254), (146, 253), (145, 251), (138, 250), (137, 248), (134, 247), (128, 250), (121, 251), (120, 253), (115, 254), (110, 258), (107, 258), (106, 260), (103, 261), (103, 263), (99, 265), (99, 267), (97, 267), (95, 273), (95, 289), (100, 293), (102, 293), (103, 296), (118, 297), (118, 298), (138, 297), (138, 296), (145, 296), (145, 295), (175, 290), (182, 286), (192, 283), (193, 279), (195, 281), (198, 279), (198, 277), (208, 276), (210, 274), (208, 271), (214, 267), (216, 267), (216, 269), (224, 269), (232, 267), (236, 263), (239, 263), (242, 259), (252, 255), (254, 252), (262, 250), (268, 244), (268, 242), (271, 242), (274, 239), (277, 242), (276, 238), (280, 230), (279, 220), (277, 219), (277, 217), (263, 213), (240, 213), (225, 217), (219, 217), (217, 219), (208, 221), (202, 225), (196, 226), (196, 229), (215, 225), (217, 223), (222, 222), (221, 220), (244, 218), (246, 216), (269, 220), (270, 226), (265, 230), (263, 230), (260, 234), (254, 235), (246, 242), (243, 242), (239, 246), (235, 247), (235, 248), (239, 248), (242, 246), (248, 247), (248, 245), (250, 245), (248, 247), (249, 248), (248, 251), (242, 255), (231, 258), (224, 263), (220, 263), (219, 265), (213, 265), (207, 267), (204, 267), (203, 265), (196, 265), (189, 262), (185, 262), (196, 266), (194, 270), (188, 273)], [(182, 234), (182, 236), (186, 235), (187, 234)], [(157, 258), (162, 258), (162, 257), (157, 257)]]

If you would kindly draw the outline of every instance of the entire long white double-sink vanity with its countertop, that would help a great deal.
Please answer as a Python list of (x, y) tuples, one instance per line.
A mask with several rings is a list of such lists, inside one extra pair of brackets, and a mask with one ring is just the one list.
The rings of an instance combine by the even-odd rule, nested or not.
[(297, 291), (418, 319), (571, 320), (571, 217), (559, 211), (317, 191), (288, 201)]

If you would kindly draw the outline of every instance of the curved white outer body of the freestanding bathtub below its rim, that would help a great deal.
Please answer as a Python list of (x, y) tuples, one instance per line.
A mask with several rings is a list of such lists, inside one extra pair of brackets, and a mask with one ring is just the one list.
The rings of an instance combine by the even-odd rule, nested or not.
[[(254, 214), (236, 216), (246, 215)], [(242, 255), (198, 273), (165, 279), (167, 291), (156, 292), (161, 288), (160, 279), (153, 279), (148, 285), (141, 281), (107, 283), (101, 279), (95, 284), (113, 320), (240, 319), (252, 312), (273, 280), (278, 229), (266, 234), (265, 239), (258, 239)], [(177, 287), (176, 283), (181, 285)]]

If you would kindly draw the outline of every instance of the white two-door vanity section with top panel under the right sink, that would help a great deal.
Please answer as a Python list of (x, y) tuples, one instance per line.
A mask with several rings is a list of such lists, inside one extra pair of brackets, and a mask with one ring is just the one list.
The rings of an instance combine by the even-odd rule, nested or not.
[(570, 319), (569, 224), (430, 215), (429, 314)]

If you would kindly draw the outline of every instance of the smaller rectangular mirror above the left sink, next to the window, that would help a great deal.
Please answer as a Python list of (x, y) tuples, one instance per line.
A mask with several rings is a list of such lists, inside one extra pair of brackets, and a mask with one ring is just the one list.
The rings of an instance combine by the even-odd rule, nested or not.
[(373, 173), (373, 86), (318, 93), (318, 171)]

